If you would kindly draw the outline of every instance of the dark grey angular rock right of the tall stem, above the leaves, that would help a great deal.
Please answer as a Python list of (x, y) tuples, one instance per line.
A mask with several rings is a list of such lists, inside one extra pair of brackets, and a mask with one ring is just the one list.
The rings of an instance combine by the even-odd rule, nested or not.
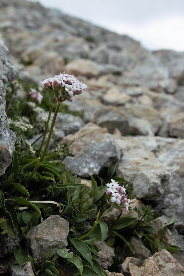
[(103, 168), (116, 163), (122, 156), (122, 150), (114, 141), (91, 144), (84, 147), (78, 155), (64, 159), (65, 168), (81, 177), (98, 175)]

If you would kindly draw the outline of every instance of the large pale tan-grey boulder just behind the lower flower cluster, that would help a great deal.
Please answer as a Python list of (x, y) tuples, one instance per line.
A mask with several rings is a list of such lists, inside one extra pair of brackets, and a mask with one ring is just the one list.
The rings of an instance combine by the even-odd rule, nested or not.
[(170, 171), (146, 148), (131, 148), (124, 152), (116, 173), (133, 182), (137, 198), (160, 200), (169, 183)]

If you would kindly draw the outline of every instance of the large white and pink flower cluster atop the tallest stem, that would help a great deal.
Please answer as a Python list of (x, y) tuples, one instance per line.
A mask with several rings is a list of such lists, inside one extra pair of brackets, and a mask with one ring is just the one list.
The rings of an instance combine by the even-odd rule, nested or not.
[(54, 78), (45, 79), (42, 84), (47, 91), (59, 92), (61, 95), (69, 97), (80, 95), (87, 87), (86, 84), (80, 83), (75, 76), (61, 73)]

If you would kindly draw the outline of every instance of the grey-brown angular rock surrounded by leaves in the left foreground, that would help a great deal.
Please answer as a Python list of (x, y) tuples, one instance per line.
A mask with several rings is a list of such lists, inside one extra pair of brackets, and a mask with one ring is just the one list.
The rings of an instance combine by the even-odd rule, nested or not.
[(50, 216), (43, 223), (30, 228), (27, 232), (26, 246), (33, 257), (41, 260), (48, 251), (57, 253), (58, 248), (68, 245), (69, 222), (59, 215)]

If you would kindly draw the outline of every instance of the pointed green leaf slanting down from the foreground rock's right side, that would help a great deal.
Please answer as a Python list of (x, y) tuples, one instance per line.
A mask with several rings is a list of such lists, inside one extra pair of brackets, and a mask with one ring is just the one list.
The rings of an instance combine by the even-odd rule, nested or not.
[(82, 240), (77, 238), (69, 238), (70, 242), (75, 246), (75, 248), (80, 252), (80, 254), (91, 264), (93, 265), (93, 260), (91, 256), (91, 251), (89, 246)]

